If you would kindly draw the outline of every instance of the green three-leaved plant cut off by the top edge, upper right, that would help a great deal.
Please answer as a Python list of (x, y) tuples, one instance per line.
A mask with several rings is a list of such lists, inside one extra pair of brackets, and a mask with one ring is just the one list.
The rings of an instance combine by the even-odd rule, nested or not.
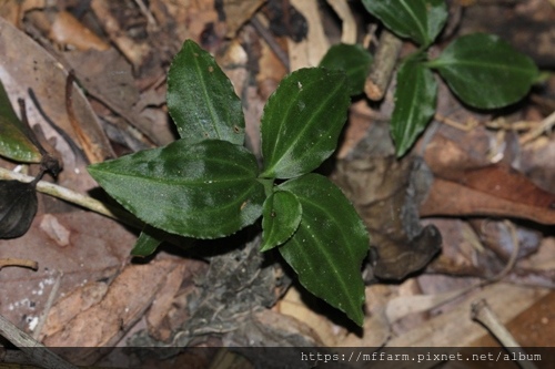
[(438, 37), (446, 20), (444, 0), (362, 0), (366, 10), (401, 38), (420, 49), (397, 69), (395, 107), (391, 135), (397, 156), (410, 150), (435, 112), (436, 70), (451, 90), (466, 104), (496, 109), (521, 100), (538, 78), (526, 55), (496, 35), (475, 33), (455, 39), (435, 59), (426, 50)]

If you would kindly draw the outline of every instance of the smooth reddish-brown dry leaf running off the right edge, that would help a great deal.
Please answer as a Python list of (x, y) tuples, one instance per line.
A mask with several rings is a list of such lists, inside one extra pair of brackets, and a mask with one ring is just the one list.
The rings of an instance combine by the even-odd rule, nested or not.
[(425, 160), (435, 180), (420, 208), (422, 216), (486, 215), (555, 224), (555, 194), (506, 164), (477, 164), (441, 135), (434, 141)]

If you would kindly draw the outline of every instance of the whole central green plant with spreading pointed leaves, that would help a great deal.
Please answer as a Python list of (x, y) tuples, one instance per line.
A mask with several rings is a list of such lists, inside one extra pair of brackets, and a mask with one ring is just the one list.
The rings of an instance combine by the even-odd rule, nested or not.
[(208, 52), (185, 41), (168, 75), (180, 139), (89, 172), (149, 225), (134, 255), (158, 247), (155, 229), (219, 238), (262, 216), (261, 250), (276, 247), (307, 290), (362, 325), (367, 232), (343, 193), (311, 173), (335, 150), (350, 85), (344, 72), (324, 68), (287, 75), (264, 107), (259, 168), (243, 146), (243, 112), (231, 82)]

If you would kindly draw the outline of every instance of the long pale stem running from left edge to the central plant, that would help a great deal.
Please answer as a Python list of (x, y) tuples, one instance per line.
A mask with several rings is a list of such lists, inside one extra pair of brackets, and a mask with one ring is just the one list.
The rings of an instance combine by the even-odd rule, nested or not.
[[(0, 167), (0, 180), (14, 180), (19, 182), (29, 183), (32, 182), (34, 177)], [(82, 195), (69, 188), (52, 184), (50, 182), (39, 181), (37, 183), (37, 191), (53, 197), (64, 199), (69, 203), (82, 206), (89, 211), (123, 222), (130, 226), (138, 227), (140, 229), (142, 229), (142, 227), (144, 226), (141, 221), (132, 217), (129, 213), (124, 213), (115, 208), (108, 208), (103, 203), (99, 202), (98, 199)]]

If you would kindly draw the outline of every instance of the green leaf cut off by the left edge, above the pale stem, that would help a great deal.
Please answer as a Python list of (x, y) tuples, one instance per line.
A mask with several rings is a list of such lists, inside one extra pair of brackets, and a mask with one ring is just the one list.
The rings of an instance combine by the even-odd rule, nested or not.
[(39, 163), (42, 155), (27, 136), (0, 82), (0, 155), (23, 163)]

